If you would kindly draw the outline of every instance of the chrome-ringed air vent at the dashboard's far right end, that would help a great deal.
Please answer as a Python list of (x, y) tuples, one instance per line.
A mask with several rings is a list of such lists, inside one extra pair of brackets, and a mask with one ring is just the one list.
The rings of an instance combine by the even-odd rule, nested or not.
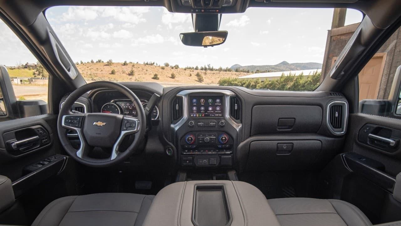
[(345, 133), (348, 118), (348, 106), (344, 101), (333, 101), (328, 105), (327, 124), (333, 134)]

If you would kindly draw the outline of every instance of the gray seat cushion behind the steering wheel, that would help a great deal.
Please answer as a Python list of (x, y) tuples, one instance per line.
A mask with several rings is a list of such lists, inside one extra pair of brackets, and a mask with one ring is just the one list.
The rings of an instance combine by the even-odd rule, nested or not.
[(54, 200), (32, 226), (141, 226), (154, 196), (99, 193)]

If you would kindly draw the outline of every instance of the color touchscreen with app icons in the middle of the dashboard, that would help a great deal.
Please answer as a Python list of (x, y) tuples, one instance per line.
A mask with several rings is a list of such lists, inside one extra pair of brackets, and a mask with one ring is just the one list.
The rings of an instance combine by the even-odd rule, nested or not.
[(190, 117), (223, 117), (223, 96), (190, 96)]

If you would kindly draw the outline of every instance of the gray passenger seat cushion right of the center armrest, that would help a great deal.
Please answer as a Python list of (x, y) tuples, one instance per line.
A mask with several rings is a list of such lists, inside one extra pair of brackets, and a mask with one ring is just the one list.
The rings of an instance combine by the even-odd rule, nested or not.
[(277, 198), (268, 200), (282, 226), (370, 226), (356, 206), (334, 199)]

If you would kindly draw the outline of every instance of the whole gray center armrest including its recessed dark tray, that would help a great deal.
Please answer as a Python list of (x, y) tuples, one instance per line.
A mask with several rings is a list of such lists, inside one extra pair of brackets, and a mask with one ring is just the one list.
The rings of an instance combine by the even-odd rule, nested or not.
[(143, 226), (216, 224), (280, 226), (259, 189), (228, 180), (186, 181), (166, 186), (154, 198)]

